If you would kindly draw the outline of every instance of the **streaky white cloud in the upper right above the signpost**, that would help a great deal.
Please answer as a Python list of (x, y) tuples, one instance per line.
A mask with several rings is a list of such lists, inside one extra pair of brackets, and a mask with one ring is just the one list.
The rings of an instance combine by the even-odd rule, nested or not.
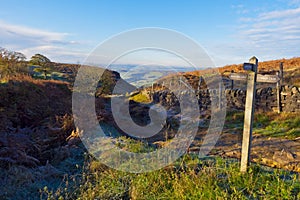
[[(300, 8), (266, 12), (248, 22), (247, 26), (243, 26), (239, 35), (245, 41), (276, 50), (281, 48), (281, 45), (300, 45), (299, 24)], [(293, 40), (293, 43), (290, 40)]]

